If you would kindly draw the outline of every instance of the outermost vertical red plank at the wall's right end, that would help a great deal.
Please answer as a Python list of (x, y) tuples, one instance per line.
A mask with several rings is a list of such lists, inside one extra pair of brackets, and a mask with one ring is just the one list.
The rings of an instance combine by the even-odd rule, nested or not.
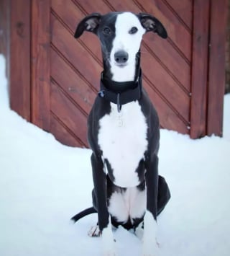
[(227, 0), (211, 0), (207, 134), (222, 136)]

